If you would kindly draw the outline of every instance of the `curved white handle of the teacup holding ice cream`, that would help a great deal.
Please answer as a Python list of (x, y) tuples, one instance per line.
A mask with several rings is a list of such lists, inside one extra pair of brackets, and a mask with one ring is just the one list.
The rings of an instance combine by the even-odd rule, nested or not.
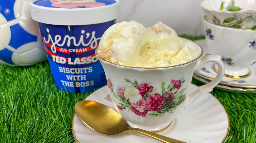
[[(220, 81), (222, 80), (224, 73), (225, 73), (225, 68), (224, 68), (224, 63), (221, 60), (221, 56), (220, 55), (207, 55), (202, 57), (201, 59), (199, 59), (199, 61), (197, 62), (196, 66), (194, 67), (194, 71), (200, 71), (200, 69), (202, 68), (202, 66), (205, 63), (208, 62), (214, 62), (218, 65), (219, 67), (219, 71), (217, 76), (209, 83), (198, 87), (198, 89), (196, 91), (194, 91), (193, 93), (191, 93), (188, 96), (187, 101), (185, 102), (183, 108), (186, 109), (187, 106), (189, 105), (189, 103), (191, 103), (191, 101), (196, 98), (197, 96), (203, 94), (203, 93), (207, 93), (207, 92), (211, 92), (212, 89), (217, 86)], [(192, 73), (193, 74), (193, 73)]]

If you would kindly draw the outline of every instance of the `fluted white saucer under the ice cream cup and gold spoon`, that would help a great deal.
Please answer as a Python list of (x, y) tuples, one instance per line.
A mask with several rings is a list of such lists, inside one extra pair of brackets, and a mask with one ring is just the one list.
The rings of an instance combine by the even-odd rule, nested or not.
[[(191, 85), (191, 91), (197, 86)], [(104, 86), (89, 95), (86, 100), (92, 100), (115, 109), (108, 100), (108, 87)], [(77, 143), (158, 143), (159, 141), (136, 133), (127, 133), (117, 136), (101, 135), (87, 127), (76, 115), (72, 122), (72, 131)], [(188, 143), (221, 143), (227, 138), (229, 132), (229, 119), (223, 105), (212, 94), (205, 93), (198, 96), (182, 109), (173, 119), (171, 125), (164, 131), (165, 135)]]

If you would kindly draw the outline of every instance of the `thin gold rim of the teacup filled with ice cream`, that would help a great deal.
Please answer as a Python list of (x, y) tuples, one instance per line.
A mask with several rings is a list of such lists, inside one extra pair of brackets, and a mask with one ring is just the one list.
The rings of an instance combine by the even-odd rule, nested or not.
[[(163, 69), (163, 68), (177, 67), (177, 66), (181, 66), (181, 65), (185, 65), (185, 64), (191, 63), (191, 62), (199, 59), (203, 55), (203, 48), (198, 43), (196, 43), (193, 40), (186, 39), (186, 38), (182, 38), (182, 37), (179, 37), (179, 38), (185, 39), (185, 40), (188, 40), (188, 41), (191, 41), (191, 42), (197, 44), (201, 48), (201, 54), (197, 58), (195, 58), (195, 59), (193, 59), (193, 60), (191, 60), (189, 62), (186, 62), (186, 63), (183, 63), (183, 64), (179, 64), (179, 65), (167, 66), (167, 67), (150, 67), (150, 68), (148, 68), (148, 67), (133, 67), (133, 66), (125, 66), (125, 65), (118, 64), (118, 63), (113, 63), (113, 62), (105, 60), (105, 59), (101, 59), (101, 60), (104, 60), (106, 62), (109, 62), (109, 63), (117, 65), (117, 66), (122, 66), (122, 67), (129, 67), (129, 68), (136, 68), (136, 69)], [(97, 49), (98, 49), (98, 47), (95, 49), (95, 53), (96, 53), (96, 56), (98, 57)]]

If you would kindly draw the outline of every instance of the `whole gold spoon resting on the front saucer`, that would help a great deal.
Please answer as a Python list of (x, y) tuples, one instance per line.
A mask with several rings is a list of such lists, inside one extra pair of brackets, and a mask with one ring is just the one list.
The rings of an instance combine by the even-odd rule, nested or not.
[(114, 109), (101, 103), (83, 100), (75, 104), (77, 116), (94, 131), (108, 136), (136, 132), (164, 143), (185, 143), (163, 135), (127, 126), (127, 122)]

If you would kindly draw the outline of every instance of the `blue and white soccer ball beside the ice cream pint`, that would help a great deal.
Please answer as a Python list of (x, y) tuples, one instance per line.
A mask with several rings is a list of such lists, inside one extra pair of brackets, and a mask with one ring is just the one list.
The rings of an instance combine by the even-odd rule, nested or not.
[(0, 63), (30, 66), (47, 59), (30, 0), (0, 0)]

